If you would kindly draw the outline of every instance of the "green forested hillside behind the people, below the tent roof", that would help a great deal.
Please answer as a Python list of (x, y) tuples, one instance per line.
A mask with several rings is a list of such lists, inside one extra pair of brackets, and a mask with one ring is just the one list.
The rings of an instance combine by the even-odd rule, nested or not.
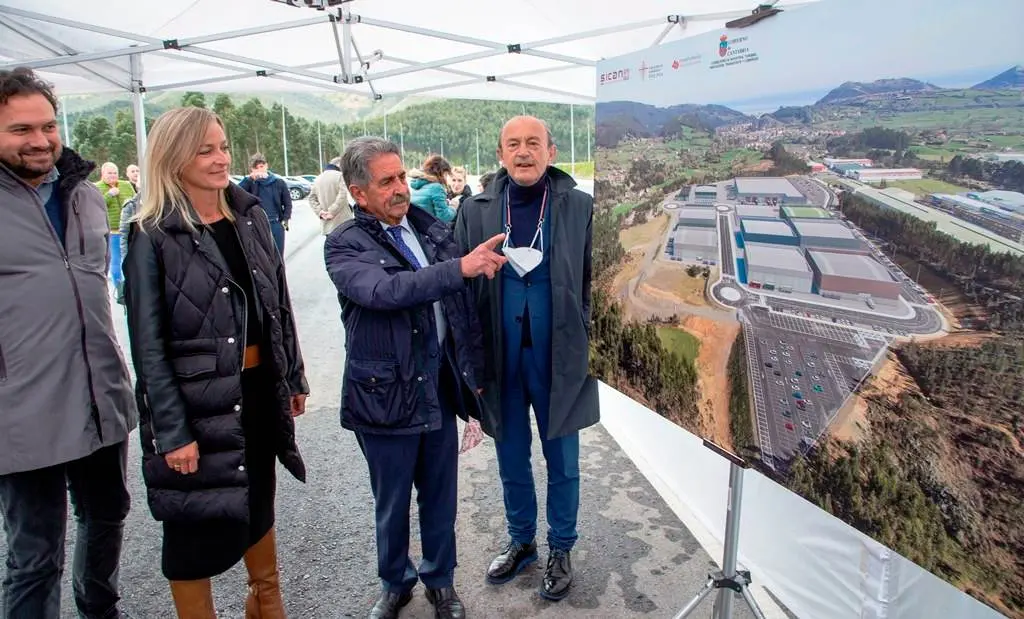
[[(317, 121), (325, 161), (340, 155), (348, 139), (386, 132), (394, 141), (402, 142), (409, 166), (419, 165), (427, 154), (443, 153), (453, 164), (465, 165), (471, 173), (476, 172), (477, 139), (480, 171), (497, 167), (498, 134), (505, 121), (517, 114), (532, 114), (549, 123), (560, 151), (559, 162), (570, 159), (570, 125), (573, 122), (577, 161), (587, 159), (588, 140), (593, 143), (590, 127), (594, 109), (589, 106), (575, 106), (570, 111), (569, 106), (556, 104), (422, 97), (391, 105), (379, 101), (374, 106), (366, 98), (346, 96), (160, 93), (145, 99), (146, 126), (163, 112), (183, 105), (217, 112), (227, 124), (234, 153), (231, 171), (236, 174), (246, 171), (247, 159), (255, 152), (263, 153), (272, 169), (284, 172), (282, 100), (292, 174), (319, 171)], [(98, 107), (87, 108), (89, 100)], [(69, 97), (67, 105), (74, 149), (87, 159), (114, 161), (122, 167), (135, 161), (135, 125), (131, 101), (127, 97), (114, 100), (110, 97)], [(330, 114), (325, 115), (325, 110)], [(329, 120), (332, 117), (334, 121)]]

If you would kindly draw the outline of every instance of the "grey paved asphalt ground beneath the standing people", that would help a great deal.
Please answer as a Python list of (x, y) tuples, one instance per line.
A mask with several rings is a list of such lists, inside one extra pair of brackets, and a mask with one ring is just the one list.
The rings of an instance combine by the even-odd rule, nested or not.
[[(306, 216), (309, 211), (303, 206), (297, 205), (296, 213), (286, 253), (312, 396), (308, 412), (298, 422), (309, 481), (301, 485), (279, 468), (286, 605), (289, 616), (297, 619), (365, 617), (378, 591), (370, 485), (352, 435), (338, 423), (344, 334), (334, 288), (324, 270), (316, 221), (311, 214)], [(116, 316), (120, 319), (121, 315)], [(124, 342), (124, 321), (117, 322)], [(148, 513), (141, 484), (137, 435), (129, 444), (133, 503), (121, 571), (123, 606), (132, 619), (172, 618), (167, 583), (160, 574), (160, 528)], [(540, 450), (535, 452), (535, 470), (541, 471), (542, 480), (539, 487), (544, 488)], [(462, 457), (457, 585), (471, 616), (669, 617), (703, 584), (707, 571), (714, 566), (711, 558), (600, 426), (583, 432), (581, 473), (582, 537), (573, 556), (578, 582), (568, 599), (550, 604), (536, 593), (542, 568), (530, 569), (504, 587), (484, 583), (483, 570), (504, 541), (494, 445), (485, 441)], [(542, 531), (543, 496), (542, 492)], [(69, 538), (70, 544), (73, 527)], [(414, 539), (414, 556), (418, 543)], [(70, 552), (69, 545), (69, 560)], [(5, 553), (6, 541), (0, 534), (0, 554)], [(75, 613), (70, 571), (63, 582), (62, 617), (71, 619)], [(220, 617), (243, 617), (244, 568), (218, 577), (214, 586)], [(741, 605), (736, 608), (741, 611), (737, 617), (751, 616)], [(711, 604), (706, 603), (693, 616), (710, 617)], [(402, 617), (432, 617), (422, 587)]]

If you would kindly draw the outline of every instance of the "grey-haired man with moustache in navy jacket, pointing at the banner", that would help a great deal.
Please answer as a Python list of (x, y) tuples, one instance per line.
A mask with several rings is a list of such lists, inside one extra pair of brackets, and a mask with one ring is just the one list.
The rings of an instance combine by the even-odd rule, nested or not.
[[(454, 587), (456, 415), (479, 417), (482, 332), (467, 281), (504, 264), (497, 235), (465, 257), (451, 228), (410, 209), (401, 152), (379, 137), (348, 143), (341, 171), (355, 217), (324, 253), (345, 324), (341, 423), (354, 430), (376, 502), (382, 592), (371, 619), (397, 617), (417, 580), (438, 618), (465, 617)], [(423, 561), (409, 559), (417, 489)]]

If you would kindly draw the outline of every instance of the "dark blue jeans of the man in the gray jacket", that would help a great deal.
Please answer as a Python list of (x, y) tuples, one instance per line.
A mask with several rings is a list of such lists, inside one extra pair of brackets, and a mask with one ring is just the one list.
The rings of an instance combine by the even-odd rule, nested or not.
[(7, 534), (4, 619), (59, 619), (68, 491), (78, 521), (75, 605), (84, 619), (117, 619), (118, 567), (130, 497), (127, 441), (74, 462), (0, 476)]

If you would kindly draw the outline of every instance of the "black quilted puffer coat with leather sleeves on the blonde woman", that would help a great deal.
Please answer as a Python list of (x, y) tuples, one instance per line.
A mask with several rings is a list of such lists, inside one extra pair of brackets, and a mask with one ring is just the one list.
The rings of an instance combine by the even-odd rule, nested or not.
[[(259, 201), (233, 183), (225, 191), (261, 317), (247, 316), (245, 293), (210, 233), (189, 229), (176, 212), (152, 232), (133, 224), (124, 262), (142, 476), (158, 521), (249, 518), (241, 382), (247, 320), (263, 324), (263, 363), (279, 376), (276, 414), (266, 421), (278, 458), (305, 481), (290, 397), (309, 389), (285, 266)], [(168, 467), (163, 454), (193, 441), (199, 472)]]

